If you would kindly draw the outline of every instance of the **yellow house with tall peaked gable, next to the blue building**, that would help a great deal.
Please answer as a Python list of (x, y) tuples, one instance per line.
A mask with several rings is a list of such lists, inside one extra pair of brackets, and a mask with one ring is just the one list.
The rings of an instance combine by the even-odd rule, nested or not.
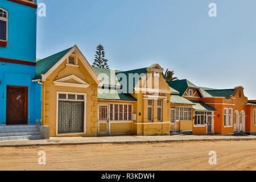
[(42, 84), (42, 125), (51, 137), (97, 136), (99, 81), (77, 46), (36, 63)]

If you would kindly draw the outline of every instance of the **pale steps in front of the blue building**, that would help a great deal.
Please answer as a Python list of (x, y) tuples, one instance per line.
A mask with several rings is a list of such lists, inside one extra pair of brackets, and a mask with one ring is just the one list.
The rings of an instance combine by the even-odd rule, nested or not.
[(36, 125), (0, 126), (0, 142), (43, 139)]

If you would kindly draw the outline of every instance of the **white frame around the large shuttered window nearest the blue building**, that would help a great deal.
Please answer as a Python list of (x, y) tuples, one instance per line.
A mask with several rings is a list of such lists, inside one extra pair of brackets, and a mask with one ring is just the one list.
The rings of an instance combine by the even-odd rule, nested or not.
[[(66, 99), (59, 99), (59, 94), (66, 94)], [(75, 94), (75, 100), (69, 100), (68, 94)], [(84, 96), (84, 100), (77, 100), (77, 95)], [(59, 101), (84, 101), (84, 132), (80, 133), (65, 133), (65, 134), (59, 134), (58, 133), (58, 110), (59, 110)], [(78, 93), (78, 92), (60, 92), (57, 91), (56, 96), (56, 135), (77, 135), (77, 134), (86, 134), (86, 93)]]

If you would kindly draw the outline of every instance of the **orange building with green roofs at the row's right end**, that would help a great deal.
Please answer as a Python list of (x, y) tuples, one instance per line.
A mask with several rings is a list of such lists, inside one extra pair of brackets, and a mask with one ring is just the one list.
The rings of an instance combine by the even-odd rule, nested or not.
[(168, 82), (179, 96), (193, 102), (195, 135), (256, 133), (256, 101), (248, 101), (243, 87), (211, 89), (188, 80)]

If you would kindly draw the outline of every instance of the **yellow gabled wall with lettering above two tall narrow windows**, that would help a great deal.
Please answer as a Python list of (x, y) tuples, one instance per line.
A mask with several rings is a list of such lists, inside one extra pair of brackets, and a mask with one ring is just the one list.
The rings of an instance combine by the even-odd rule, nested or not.
[[(163, 97), (148, 97), (145, 90), (136, 91), (132, 94), (137, 98), (137, 102), (134, 104), (134, 112), (137, 114), (137, 119), (134, 123), (134, 134), (137, 135), (158, 135), (158, 134), (170, 134), (170, 87), (164, 80), (162, 74), (157, 79), (157, 84), (154, 77), (151, 77), (152, 85), (144, 85), (144, 81), (148, 82), (148, 76), (153, 75), (153, 72), (146, 73), (146, 76), (135, 85), (135, 88), (142, 89), (154, 89), (159, 90), (159, 93), (166, 92), (166, 98)], [(148, 91), (150, 92), (150, 91)], [(158, 91), (156, 91), (158, 92)], [(148, 99), (153, 100), (153, 122), (148, 122)], [(158, 100), (162, 100), (162, 121), (158, 122), (157, 119), (157, 104)]]

